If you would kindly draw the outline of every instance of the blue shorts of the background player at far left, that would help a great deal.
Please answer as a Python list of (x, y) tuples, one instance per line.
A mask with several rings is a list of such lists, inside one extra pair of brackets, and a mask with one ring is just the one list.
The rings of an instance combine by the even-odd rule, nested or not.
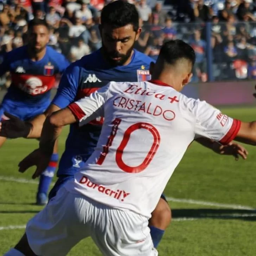
[(48, 108), (50, 102), (47, 100), (43, 105), (37, 106), (28, 106), (21, 105), (13, 100), (4, 100), (0, 105), (0, 120), (4, 115), (4, 111), (19, 117), (19, 119), (23, 121), (27, 121), (32, 119), (33, 117), (44, 113), (44, 111)]

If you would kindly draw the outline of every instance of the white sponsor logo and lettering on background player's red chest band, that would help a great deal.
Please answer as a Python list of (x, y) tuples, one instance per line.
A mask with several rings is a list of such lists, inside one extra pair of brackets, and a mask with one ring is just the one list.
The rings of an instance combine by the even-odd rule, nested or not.
[(25, 84), (19, 84), (19, 88), (28, 94), (37, 95), (47, 91), (47, 85), (43, 86), (43, 82), (38, 77), (28, 78)]

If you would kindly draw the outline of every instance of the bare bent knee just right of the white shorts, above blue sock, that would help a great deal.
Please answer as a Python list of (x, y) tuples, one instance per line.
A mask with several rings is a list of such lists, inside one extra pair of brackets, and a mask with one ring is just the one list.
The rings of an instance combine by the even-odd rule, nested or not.
[(152, 212), (152, 217), (149, 220), (149, 225), (165, 230), (172, 220), (172, 212), (168, 203), (160, 198), (155, 210)]

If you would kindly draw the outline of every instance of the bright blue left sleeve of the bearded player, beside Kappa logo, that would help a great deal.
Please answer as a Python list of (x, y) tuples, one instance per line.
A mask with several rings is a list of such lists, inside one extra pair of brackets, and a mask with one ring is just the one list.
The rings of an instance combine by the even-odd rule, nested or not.
[(79, 84), (79, 74), (80, 69), (75, 65), (70, 65), (64, 71), (52, 104), (57, 105), (59, 108), (65, 108), (71, 102), (75, 101)]

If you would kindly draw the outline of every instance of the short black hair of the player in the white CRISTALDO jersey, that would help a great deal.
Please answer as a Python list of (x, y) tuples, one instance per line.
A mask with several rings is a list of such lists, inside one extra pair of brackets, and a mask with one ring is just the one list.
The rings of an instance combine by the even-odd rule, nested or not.
[(175, 65), (179, 59), (187, 59), (191, 62), (193, 67), (196, 61), (193, 48), (179, 39), (166, 41), (161, 47), (159, 57), (171, 65)]

